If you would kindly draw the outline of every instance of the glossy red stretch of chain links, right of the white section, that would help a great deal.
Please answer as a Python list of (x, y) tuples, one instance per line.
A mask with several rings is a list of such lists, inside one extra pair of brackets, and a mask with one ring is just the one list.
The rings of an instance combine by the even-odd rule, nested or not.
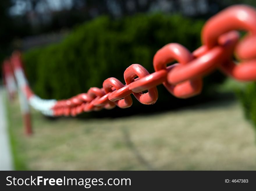
[[(246, 30), (248, 34), (239, 42), (239, 33), (233, 30)], [(161, 83), (176, 97), (192, 97), (201, 92), (202, 77), (217, 68), (237, 80), (256, 80), (254, 8), (231, 6), (209, 19), (202, 29), (202, 43), (192, 53), (181, 44), (167, 44), (154, 56), (154, 73), (133, 64), (124, 72), (125, 85), (116, 78), (108, 78), (103, 88), (93, 87), (87, 93), (58, 101), (52, 108), (54, 115), (75, 116), (115, 106), (127, 108), (132, 105), (130, 94), (143, 104), (154, 104), (158, 99), (156, 86)], [(233, 52), (241, 59), (239, 65), (232, 60)], [(178, 63), (167, 66), (173, 61)], [(148, 92), (143, 94), (145, 90)]]

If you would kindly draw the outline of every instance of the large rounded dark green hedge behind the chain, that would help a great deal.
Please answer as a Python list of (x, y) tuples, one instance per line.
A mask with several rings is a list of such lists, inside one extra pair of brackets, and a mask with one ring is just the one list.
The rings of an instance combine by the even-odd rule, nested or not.
[[(140, 14), (119, 20), (98, 17), (74, 28), (61, 43), (24, 53), (26, 73), (35, 93), (46, 99), (65, 99), (92, 86), (102, 87), (108, 77), (124, 83), (123, 72), (133, 63), (153, 72), (153, 56), (167, 43), (177, 42), (195, 50), (201, 44), (203, 24), (202, 20), (180, 15)], [(206, 78), (204, 86), (212, 88), (223, 78), (215, 73)], [(168, 106), (172, 108), (175, 104), (191, 102), (190, 99), (176, 102), (177, 99), (159, 87), (159, 104), (174, 101)], [(136, 108), (136, 99), (134, 103)]]

